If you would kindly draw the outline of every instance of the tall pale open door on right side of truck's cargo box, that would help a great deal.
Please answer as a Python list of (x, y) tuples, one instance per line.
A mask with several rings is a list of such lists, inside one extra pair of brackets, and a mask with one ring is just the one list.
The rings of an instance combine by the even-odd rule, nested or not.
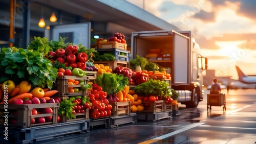
[(172, 84), (189, 85), (190, 82), (190, 47), (189, 37), (174, 30), (173, 32), (173, 70)]

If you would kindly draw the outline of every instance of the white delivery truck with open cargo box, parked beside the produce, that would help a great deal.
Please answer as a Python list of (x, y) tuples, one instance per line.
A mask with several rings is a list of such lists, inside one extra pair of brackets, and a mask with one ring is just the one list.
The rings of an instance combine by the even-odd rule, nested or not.
[(131, 36), (131, 57), (146, 57), (171, 74), (171, 88), (179, 93), (179, 103), (197, 107), (203, 100), (203, 74), (207, 58), (191, 31), (143, 31)]

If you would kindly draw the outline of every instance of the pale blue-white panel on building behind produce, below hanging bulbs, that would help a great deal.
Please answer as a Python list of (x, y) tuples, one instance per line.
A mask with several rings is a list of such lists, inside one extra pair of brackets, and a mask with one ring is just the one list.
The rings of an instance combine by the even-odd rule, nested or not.
[(91, 22), (74, 23), (69, 25), (57, 25), (52, 28), (51, 40), (60, 40), (59, 37), (66, 38), (65, 42), (82, 44), (87, 49), (91, 48)]

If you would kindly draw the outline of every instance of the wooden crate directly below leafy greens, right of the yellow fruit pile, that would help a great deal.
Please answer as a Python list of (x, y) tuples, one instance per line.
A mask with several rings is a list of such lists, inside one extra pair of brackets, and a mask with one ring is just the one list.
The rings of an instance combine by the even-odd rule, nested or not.
[(141, 112), (160, 112), (163, 111), (163, 100), (159, 101), (142, 101), (142, 105), (144, 106), (144, 110)]

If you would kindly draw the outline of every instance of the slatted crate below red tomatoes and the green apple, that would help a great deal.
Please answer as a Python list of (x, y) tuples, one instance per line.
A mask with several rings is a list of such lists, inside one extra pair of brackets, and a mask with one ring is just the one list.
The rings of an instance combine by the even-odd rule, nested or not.
[(88, 89), (81, 90), (79, 92), (69, 92), (68, 87), (78, 87), (82, 85), (68, 85), (69, 79), (83, 80), (84, 83), (88, 83), (89, 77), (76, 77), (76, 76), (58, 76), (56, 78), (55, 84), (53, 84), (53, 89), (58, 90), (55, 96), (77, 96), (77, 95), (88, 95)]

